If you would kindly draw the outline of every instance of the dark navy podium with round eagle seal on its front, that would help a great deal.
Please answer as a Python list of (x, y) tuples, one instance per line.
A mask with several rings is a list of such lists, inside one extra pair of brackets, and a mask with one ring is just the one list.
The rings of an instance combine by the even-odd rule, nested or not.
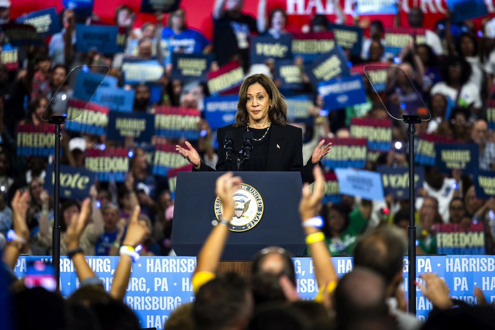
[[(178, 256), (197, 256), (211, 232), (212, 221), (220, 213), (215, 182), (223, 173), (177, 174), (171, 244)], [(302, 192), (300, 173), (234, 172), (234, 175), (242, 177), (243, 189), (234, 193), (236, 215), (229, 225), (232, 231), (221, 260), (251, 260), (256, 252), (268, 246), (280, 246), (294, 256), (302, 255), (306, 243), (298, 211)]]

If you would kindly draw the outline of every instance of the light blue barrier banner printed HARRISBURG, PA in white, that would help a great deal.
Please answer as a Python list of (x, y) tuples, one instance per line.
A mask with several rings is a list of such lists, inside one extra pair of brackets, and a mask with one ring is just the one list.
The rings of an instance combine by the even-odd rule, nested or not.
[[(14, 268), (17, 277), (26, 274), (29, 261), (51, 262), (51, 257), (20, 256)], [(108, 292), (119, 257), (86, 257), (91, 269)], [(301, 299), (312, 300), (318, 293), (311, 258), (292, 258), (296, 271), (296, 291)], [(339, 278), (352, 271), (352, 257), (332, 257)], [(403, 259), (402, 288), (408, 294), (408, 260)], [(60, 293), (68, 297), (80, 287), (74, 264), (67, 257), (60, 258)], [(141, 327), (163, 329), (170, 313), (181, 304), (194, 301), (191, 278), (196, 267), (195, 257), (141, 257), (132, 265), (131, 278), (126, 288), (124, 303), (134, 310)], [(488, 303), (495, 301), (495, 257), (492, 255), (418, 256), (416, 257), (416, 282), (425, 273), (435, 273), (445, 280), (450, 296), (477, 305), (473, 291), (482, 289)], [(416, 317), (426, 321), (433, 309), (432, 303), (416, 288)]]

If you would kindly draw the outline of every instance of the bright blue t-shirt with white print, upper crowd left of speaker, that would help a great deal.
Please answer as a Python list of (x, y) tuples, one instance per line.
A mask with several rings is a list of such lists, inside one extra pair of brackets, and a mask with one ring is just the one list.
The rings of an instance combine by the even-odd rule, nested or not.
[(168, 26), (163, 28), (161, 38), (169, 40), (170, 50), (174, 53), (201, 53), (203, 48), (210, 44), (208, 39), (204, 38), (198, 31), (186, 29), (179, 34), (175, 34), (174, 30)]

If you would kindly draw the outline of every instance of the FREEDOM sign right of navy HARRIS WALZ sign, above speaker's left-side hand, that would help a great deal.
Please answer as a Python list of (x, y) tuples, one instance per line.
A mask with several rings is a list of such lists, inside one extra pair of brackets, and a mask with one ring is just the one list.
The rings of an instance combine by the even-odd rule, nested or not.
[(199, 110), (180, 106), (159, 106), (154, 115), (154, 134), (168, 139), (198, 140)]

